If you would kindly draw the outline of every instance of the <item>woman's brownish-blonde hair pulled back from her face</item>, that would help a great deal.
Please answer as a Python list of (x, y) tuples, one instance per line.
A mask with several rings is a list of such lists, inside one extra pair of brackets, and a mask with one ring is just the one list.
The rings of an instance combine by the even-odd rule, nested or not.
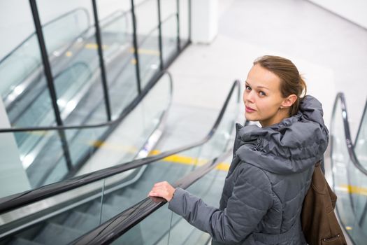
[(296, 115), (299, 103), (307, 92), (307, 85), (298, 72), (297, 67), (289, 59), (272, 55), (264, 55), (255, 59), (255, 64), (259, 64), (280, 78), (280, 92), (282, 97), (285, 98), (291, 94), (296, 94), (297, 99), (289, 109), (289, 116)]

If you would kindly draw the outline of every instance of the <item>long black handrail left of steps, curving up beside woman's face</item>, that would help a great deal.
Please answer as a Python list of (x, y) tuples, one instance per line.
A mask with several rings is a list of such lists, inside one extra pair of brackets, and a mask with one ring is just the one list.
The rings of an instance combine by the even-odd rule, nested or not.
[[(163, 76), (163, 73), (162, 73), (162, 76)], [(226, 100), (225, 100), (225, 102), (222, 106), (222, 109), (219, 113), (219, 116), (217, 116), (217, 120), (215, 120), (215, 123), (214, 123), (213, 127), (211, 128), (210, 132), (208, 132), (206, 137), (204, 137), (200, 141), (197, 141), (194, 144), (189, 144), (187, 146), (182, 146), (182, 147), (179, 147), (179, 148), (175, 148), (174, 150), (171, 150), (171, 151), (166, 151), (164, 153), (160, 153), (159, 155), (153, 155), (153, 156), (150, 156), (150, 157), (147, 157), (147, 158), (134, 160), (134, 161), (131, 161), (131, 162), (116, 165), (114, 167), (109, 167), (109, 168), (101, 169), (99, 171), (92, 172), (92, 173), (89, 173), (89, 174), (84, 174), (82, 176), (77, 176), (77, 177), (74, 177), (72, 179), (67, 179), (67, 180), (64, 180), (64, 181), (59, 181), (57, 183), (52, 183), (48, 186), (43, 186), (41, 188), (36, 188), (34, 190), (29, 190), (29, 191), (25, 191), (23, 193), (17, 193), (17, 194), (14, 194), (14, 195), (10, 195), (8, 197), (3, 197), (3, 198), (0, 199), (0, 214), (5, 213), (7, 211), (11, 211), (13, 209), (17, 209), (17, 208), (22, 207), (22, 206), (27, 205), (27, 204), (31, 204), (33, 202), (43, 200), (43, 199), (48, 198), (48, 197), (52, 197), (52, 196), (60, 194), (60, 193), (64, 193), (68, 190), (73, 190), (75, 188), (85, 186), (88, 183), (92, 183), (94, 181), (99, 181), (101, 179), (106, 179), (110, 176), (114, 176), (115, 174), (120, 174), (122, 172), (126, 172), (129, 169), (135, 169), (137, 167), (141, 167), (143, 165), (150, 164), (151, 162), (157, 162), (157, 160), (161, 160), (163, 158), (166, 158), (170, 155), (180, 153), (182, 151), (187, 151), (189, 149), (195, 148), (196, 146), (201, 146), (202, 144), (209, 141), (209, 139), (211, 139), (211, 137), (213, 137), (213, 134), (217, 131), (217, 127), (220, 125), (220, 122), (223, 118), (224, 112), (226, 111), (226, 108), (229, 104), (229, 99), (231, 99), (232, 94), (233, 94), (234, 90), (236, 89), (236, 87), (238, 89), (236, 96), (237, 96), (237, 99), (239, 101), (239, 98), (240, 98), (240, 81), (236, 80), (236, 81), (233, 82), (233, 85), (231, 86), (231, 90), (229, 91), (229, 94), (226, 97)], [(145, 94), (146, 94), (148, 90), (149, 89), (145, 88), (145, 90), (143, 90), (143, 91), (145, 91)], [(142, 92), (142, 94), (143, 94), (143, 92)], [(141, 97), (141, 96), (139, 96), (139, 97)], [(137, 103), (137, 102), (135, 102), (135, 103)], [(131, 110), (132, 110), (131, 106), (129, 106), (129, 109), (124, 110), (124, 111), (131, 111)], [(129, 112), (125, 112), (124, 115), (127, 115), (127, 113), (129, 113)], [(106, 125), (106, 123), (103, 124), (103, 126), (104, 125)], [(89, 127), (91, 127), (91, 126), (89, 125)], [(98, 127), (98, 126), (94, 126), (94, 127)]]

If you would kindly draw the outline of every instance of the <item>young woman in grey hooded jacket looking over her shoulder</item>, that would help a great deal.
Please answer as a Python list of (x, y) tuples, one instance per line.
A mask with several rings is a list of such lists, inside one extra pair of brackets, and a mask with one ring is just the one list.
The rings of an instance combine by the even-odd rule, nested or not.
[(166, 199), (169, 209), (208, 232), (213, 244), (306, 244), (302, 203), (329, 132), (322, 105), (314, 97), (302, 97), (305, 91), (289, 59), (256, 59), (243, 102), (246, 119), (261, 127), (237, 125), (220, 208), (167, 182), (156, 183), (149, 195)]

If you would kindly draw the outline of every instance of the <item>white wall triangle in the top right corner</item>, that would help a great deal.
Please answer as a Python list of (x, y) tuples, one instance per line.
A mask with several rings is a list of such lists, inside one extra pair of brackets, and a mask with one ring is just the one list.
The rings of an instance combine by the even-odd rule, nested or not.
[(309, 0), (361, 27), (367, 28), (366, 0)]

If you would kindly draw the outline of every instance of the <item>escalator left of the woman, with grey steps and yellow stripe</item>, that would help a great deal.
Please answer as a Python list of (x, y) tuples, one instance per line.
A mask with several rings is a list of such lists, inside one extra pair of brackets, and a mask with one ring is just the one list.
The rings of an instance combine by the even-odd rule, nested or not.
[[(162, 180), (173, 183), (187, 174), (215, 167), (213, 162), (225, 160), (223, 155), (228, 155), (233, 141), (230, 136), (238, 116), (239, 99), (240, 83), (236, 81), (213, 129), (199, 142), (4, 197), (0, 200), (0, 243), (68, 244), (134, 206), (146, 197), (153, 183)], [(214, 204), (218, 197), (213, 193), (220, 193), (217, 190), (222, 188), (215, 179), (224, 181), (225, 176), (225, 171), (216, 169), (201, 178), (203, 183), (194, 190), (204, 191), (201, 194), (208, 195)], [(147, 223), (137, 225), (124, 239), (134, 244), (149, 244), (148, 240), (154, 244), (166, 239), (168, 233), (162, 235), (154, 230), (164, 227), (166, 218), (169, 217), (147, 219)], [(180, 219), (175, 217), (173, 222), (178, 228)]]

